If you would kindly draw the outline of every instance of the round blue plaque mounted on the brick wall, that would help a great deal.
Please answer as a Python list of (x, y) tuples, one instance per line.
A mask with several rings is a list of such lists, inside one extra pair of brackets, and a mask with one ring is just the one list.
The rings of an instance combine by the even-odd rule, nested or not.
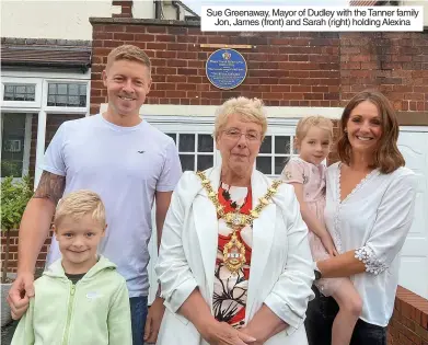
[(206, 65), (207, 78), (216, 88), (230, 90), (239, 87), (246, 77), (246, 61), (234, 49), (218, 49)]

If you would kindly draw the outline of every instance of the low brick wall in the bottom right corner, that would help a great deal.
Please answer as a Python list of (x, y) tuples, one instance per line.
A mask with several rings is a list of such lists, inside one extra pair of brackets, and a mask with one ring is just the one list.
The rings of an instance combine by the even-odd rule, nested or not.
[(387, 344), (428, 345), (428, 300), (398, 286)]

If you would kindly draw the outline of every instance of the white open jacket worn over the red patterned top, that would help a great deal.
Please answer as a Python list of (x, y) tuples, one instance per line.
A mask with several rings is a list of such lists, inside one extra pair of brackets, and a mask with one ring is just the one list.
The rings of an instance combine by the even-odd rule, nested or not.
[[(220, 166), (206, 171), (215, 191), (220, 184)], [(251, 182), (255, 207), (271, 180), (254, 171)], [(166, 307), (157, 344), (208, 344), (176, 311), (198, 287), (212, 312), (217, 244), (216, 208), (199, 177), (194, 172), (185, 172), (172, 196), (155, 267)], [(266, 345), (308, 344), (303, 320), (308, 301), (313, 298), (314, 274), (308, 228), (290, 185), (281, 184), (273, 203), (253, 222), (250, 269), (245, 323), (265, 303), (289, 324)]]

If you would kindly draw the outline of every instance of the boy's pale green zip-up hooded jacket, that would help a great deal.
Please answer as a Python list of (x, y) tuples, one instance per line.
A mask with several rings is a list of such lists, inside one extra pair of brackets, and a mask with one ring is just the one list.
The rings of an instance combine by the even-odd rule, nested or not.
[(58, 260), (34, 288), (35, 297), (12, 345), (132, 344), (126, 281), (106, 257), (100, 255), (76, 285), (66, 277)]

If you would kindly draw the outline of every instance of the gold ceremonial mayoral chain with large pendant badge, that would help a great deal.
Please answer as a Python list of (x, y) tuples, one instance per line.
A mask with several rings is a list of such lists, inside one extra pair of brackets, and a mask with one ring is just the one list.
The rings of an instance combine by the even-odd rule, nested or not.
[(261, 211), (269, 205), (273, 196), (278, 192), (277, 188), (282, 181), (274, 181), (266, 194), (258, 199), (258, 205), (250, 211), (250, 215), (243, 215), (240, 212), (240, 209), (235, 209), (233, 212), (224, 212), (224, 206), (220, 204), (217, 193), (212, 189), (211, 182), (207, 179), (204, 172), (198, 171), (196, 174), (200, 179), (204, 188), (207, 191), (208, 198), (215, 205), (218, 217), (222, 218), (233, 231), (230, 241), (223, 249), (223, 263), (230, 272), (235, 273), (241, 269), (246, 262), (245, 246), (239, 240), (236, 232), (245, 226), (253, 226), (254, 219), (258, 218)]

